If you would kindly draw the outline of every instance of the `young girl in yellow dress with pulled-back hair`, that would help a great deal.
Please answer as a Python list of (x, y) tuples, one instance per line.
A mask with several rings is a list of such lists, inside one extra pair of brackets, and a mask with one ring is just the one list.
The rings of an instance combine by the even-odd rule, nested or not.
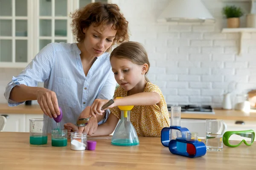
[[(110, 116), (106, 123), (99, 125), (91, 136), (110, 135), (115, 129), (121, 111), (117, 106), (134, 105), (131, 110), (131, 123), (138, 136), (160, 137), (163, 127), (169, 127), (169, 112), (160, 88), (146, 78), (149, 69), (148, 56), (138, 42), (123, 42), (110, 55), (112, 71), (120, 85), (114, 94), (114, 103), (106, 108)], [(116, 97), (122, 97), (116, 99)], [(90, 106), (90, 115), (102, 114), (102, 106), (108, 100), (96, 99)], [(77, 127), (71, 123), (65, 128)]]

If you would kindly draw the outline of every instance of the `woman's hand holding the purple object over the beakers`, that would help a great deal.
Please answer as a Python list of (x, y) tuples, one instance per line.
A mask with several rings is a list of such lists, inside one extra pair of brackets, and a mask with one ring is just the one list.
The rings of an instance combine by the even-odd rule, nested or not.
[(54, 91), (50, 91), (47, 88), (40, 88), (37, 91), (37, 101), (44, 114), (50, 118), (52, 116), (56, 118), (57, 115), (60, 115), (58, 100)]

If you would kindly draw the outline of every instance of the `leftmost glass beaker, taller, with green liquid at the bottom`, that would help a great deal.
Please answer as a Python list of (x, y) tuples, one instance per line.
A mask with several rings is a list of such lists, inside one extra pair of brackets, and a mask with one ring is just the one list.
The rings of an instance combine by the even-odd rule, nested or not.
[(29, 143), (47, 144), (48, 119), (29, 119)]

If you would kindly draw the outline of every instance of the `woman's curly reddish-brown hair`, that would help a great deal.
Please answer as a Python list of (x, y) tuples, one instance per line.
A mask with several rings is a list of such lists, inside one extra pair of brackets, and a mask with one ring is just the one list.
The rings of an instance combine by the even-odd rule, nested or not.
[[(77, 42), (84, 40), (84, 28), (88, 28), (91, 25), (94, 27), (102, 25), (105, 28), (109, 24), (113, 24), (112, 29), (117, 30), (112, 45), (129, 40), (128, 21), (120, 13), (120, 8), (116, 4), (90, 3), (84, 8), (76, 10), (71, 14), (71, 18), (72, 31)], [(108, 48), (107, 51), (110, 49)]]

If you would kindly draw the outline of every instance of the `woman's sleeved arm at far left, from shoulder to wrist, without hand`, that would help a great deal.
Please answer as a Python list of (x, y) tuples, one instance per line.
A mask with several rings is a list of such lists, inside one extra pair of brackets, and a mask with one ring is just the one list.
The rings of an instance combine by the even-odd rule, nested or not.
[(44, 47), (29, 65), (7, 85), (4, 96), (10, 106), (22, 104), (26, 100), (36, 100), (38, 82), (44, 82), (49, 78), (55, 61), (55, 48), (52, 44)]

